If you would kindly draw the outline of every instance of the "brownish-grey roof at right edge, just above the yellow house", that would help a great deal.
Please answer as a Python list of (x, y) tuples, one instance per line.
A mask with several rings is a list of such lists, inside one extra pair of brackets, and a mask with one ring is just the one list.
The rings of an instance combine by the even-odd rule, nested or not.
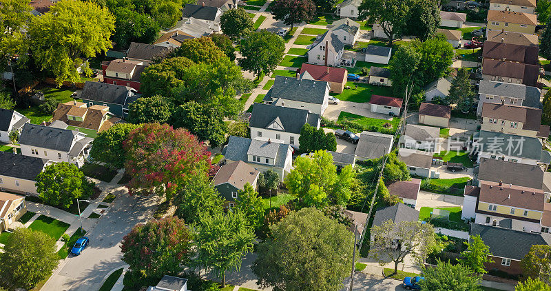
[[(519, 174), (522, 173), (522, 174)], [(543, 170), (538, 165), (498, 159), (480, 159), (479, 181), (499, 182), (534, 189), (543, 188)]]

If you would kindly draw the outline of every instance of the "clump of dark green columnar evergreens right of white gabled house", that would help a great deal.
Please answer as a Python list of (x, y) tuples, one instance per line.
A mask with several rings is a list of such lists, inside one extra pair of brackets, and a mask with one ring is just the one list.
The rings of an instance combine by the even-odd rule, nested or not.
[(315, 129), (308, 123), (300, 129), (298, 137), (300, 152), (315, 152), (316, 150), (337, 150), (337, 139), (331, 132), (325, 133), (323, 128)]

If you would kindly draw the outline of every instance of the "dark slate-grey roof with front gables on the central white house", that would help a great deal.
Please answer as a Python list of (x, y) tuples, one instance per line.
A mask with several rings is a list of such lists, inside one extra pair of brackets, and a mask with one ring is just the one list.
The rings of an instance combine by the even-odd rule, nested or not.
[(305, 123), (317, 127), (320, 115), (306, 109), (255, 103), (249, 125), (252, 128), (267, 128), (277, 118), (285, 132), (300, 134)]

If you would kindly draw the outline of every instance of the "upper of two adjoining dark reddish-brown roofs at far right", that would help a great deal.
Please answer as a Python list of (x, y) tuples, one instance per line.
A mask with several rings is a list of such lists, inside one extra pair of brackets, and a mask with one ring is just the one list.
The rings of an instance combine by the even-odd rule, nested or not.
[(484, 41), (482, 57), (484, 59), (501, 59), (513, 63), (537, 65), (539, 64), (538, 52), (539, 48), (537, 46), (521, 46), (501, 41)]

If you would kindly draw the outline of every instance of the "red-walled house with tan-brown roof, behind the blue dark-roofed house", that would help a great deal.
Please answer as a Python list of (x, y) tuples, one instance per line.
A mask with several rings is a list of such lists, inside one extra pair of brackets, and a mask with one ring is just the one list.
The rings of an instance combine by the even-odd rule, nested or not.
[(147, 66), (143, 61), (130, 61), (128, 59), (115, 59), (102, 61), (103, 83), (127, 86), (140, 92), (140, 76)]

